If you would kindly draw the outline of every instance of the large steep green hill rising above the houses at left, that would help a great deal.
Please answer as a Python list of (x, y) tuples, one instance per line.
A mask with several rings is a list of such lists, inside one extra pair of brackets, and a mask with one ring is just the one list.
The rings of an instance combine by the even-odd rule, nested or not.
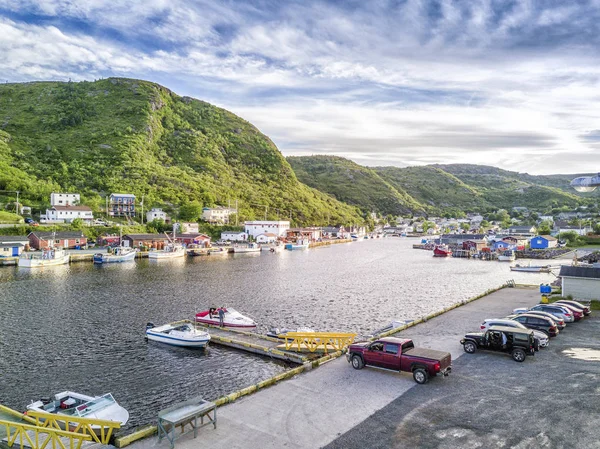
[(122, 192), (175, 213), (239, 199), (241, 219), (362, 222), (356, 208), (299, 182), (247, 121), (151, 82), (2, 84), (0, 130), (0, 190), (38, 207), (69, 191), (100, 210)]

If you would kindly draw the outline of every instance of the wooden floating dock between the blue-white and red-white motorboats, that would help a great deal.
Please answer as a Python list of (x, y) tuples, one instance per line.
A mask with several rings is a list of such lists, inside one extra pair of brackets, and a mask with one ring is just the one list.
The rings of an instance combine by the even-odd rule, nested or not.
[(210, 333), (210, 343), (230, 348), (240, 349), (246, 352), (272, 357), (292, 363), (306, 363), (322, 356), (319, 353), (299, 353), (279, 349), (278, 346), (285, 343), (281, 338), (268, 337), (253, 332), (225, 329), (214, 326), (206, 326)]

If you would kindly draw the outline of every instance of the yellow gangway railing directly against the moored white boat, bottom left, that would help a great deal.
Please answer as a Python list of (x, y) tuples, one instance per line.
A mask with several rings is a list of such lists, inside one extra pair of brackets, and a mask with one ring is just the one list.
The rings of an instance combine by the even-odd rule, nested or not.
[[(78, 435), (89, 435), (100, 444), (108, 444), (114, 430), (121, 428), (121, 423), (106, 419), (81, 418), (53, 413), (29, 410), (27, 416), (35, 418), (36, 425), (42, 428), (68, 429)], [(92, 429), (97, 426), (97, 429)]]

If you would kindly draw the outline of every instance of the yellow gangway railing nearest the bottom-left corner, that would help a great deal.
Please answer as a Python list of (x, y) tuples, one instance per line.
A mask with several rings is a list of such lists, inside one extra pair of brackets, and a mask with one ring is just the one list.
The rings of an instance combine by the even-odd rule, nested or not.
[(84, 441), (92, 439), (90, 435), (12, 421), (0, 420), (0, 426), (6, 429), (6, 444), (10, 447), (19, 444), (21, 449), (45, 449), (49, 444), (52, 449), (80, 449)]

